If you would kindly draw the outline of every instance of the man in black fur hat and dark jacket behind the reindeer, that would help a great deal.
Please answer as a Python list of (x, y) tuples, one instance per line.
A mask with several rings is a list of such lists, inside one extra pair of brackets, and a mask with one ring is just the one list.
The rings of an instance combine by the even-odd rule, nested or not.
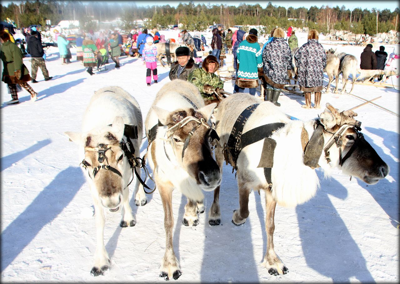
[(188, 80), (189, 73), (199, 68), (198, 64), (190, 58), (190, 49), (186, 46), (176, 48), (175, 55), (177, 61), (171, 64), (170, 80)]

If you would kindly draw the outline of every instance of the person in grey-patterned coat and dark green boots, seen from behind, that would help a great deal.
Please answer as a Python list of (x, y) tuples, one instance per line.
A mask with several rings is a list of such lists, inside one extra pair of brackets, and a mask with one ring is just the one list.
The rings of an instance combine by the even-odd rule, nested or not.
[[(264, 100), (280, 106), (278, 103), (281, 89), (286, 83), (288, 70), (292, 69), (292, 52), (286, 43), (285, 32), (282, 28), (276, 28), (274, 39), (265, 46), (262, 51), (262, 65), (264, 71), (264, 89), (267, 90)], [(272, 91), (271, 86), (274, 88)]]

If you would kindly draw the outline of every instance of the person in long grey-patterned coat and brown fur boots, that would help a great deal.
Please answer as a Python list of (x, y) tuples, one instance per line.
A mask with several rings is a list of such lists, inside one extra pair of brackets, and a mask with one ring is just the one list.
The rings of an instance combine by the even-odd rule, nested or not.
[(308, 32), (308, 42), (300, 47), (294, 60), (297, 66), (300, 91), (304, 91), (306, 104), (302, 108), (311, 108), (311, 93), (315, 92), (314, 108), (320, 108), (321, 90), (324, 82), (326, 54), (318, 42), (318, 32)]

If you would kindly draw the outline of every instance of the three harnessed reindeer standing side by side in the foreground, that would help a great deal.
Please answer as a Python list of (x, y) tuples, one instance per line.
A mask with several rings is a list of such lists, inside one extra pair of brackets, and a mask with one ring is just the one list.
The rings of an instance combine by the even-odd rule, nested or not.
[[(239, 193), (240, 207), (233, 212), (232, 226), (246, 222), (250, 191), (265, 192), (267, 248), (263, 264), (275, 276), (289, 271), (274, 250), (276, 204), (294, 207), (312, 198), (319, 187), (315, 171), (319, 167), (326, 176), (338, 168), (367, 184), (376, 184), (389, 172), (388, 165), (364, 139), (361, 122), (354, 119), (357, 114), (353, 111), (340, 112), (326, 104), (318, 118), (292, 120), (271, 102), (240, 93), (222, 100), (214, 125), (210, 117), (215, 106), (205, 106), (190, 82), (174, 80), (157, 93), (144, 122), (147, 152), (143, 160), (152, 169), (164, 209), (166, 246), (164, 256), (160, 254), (160, 277), (165, 280), (176, 280), (185, 273), (172, 240), (172, 191), (178, 190), (188, 199), (184, 226), (199, 223), (198, 214), (205, 211), (204, 192), (213, 191), (208, 223), (220, 225), (224, 161), (236, 170), (238, 180), (238, 190), (225, 188), (221, 192)], [(122, 88), (112, 86), (95, 92), (83, 117), (82, 132), (65, 132), (79, 146), (82, 170), (94, 201), (97, 246), (90, 272), (93, 276), (104, 275), (111, 266), (104, 246), (104, 211), (121, 212), (121, 227), (136, 225), (128, 198), (133, 179), (135, 204), (146, 204), (140, 178), (145, 167), (139, 158), (142, 124), (138, 102)], [(134, 172), (138, 173), (135, 178)]]

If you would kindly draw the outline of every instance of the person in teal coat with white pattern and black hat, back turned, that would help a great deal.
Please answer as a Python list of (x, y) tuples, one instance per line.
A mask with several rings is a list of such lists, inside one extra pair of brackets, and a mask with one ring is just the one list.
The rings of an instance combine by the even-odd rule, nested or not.
[(252, 28), (246, 40), (243, 40), (238, 47), (237, 62), (238, 73), (234, 87), (234, 93), (243, 93), (244, 88), (249, 88), (251, 95), (256, 94), (258, 78), (262, 77), (261, 47), (258, 44), (257, 30)]

